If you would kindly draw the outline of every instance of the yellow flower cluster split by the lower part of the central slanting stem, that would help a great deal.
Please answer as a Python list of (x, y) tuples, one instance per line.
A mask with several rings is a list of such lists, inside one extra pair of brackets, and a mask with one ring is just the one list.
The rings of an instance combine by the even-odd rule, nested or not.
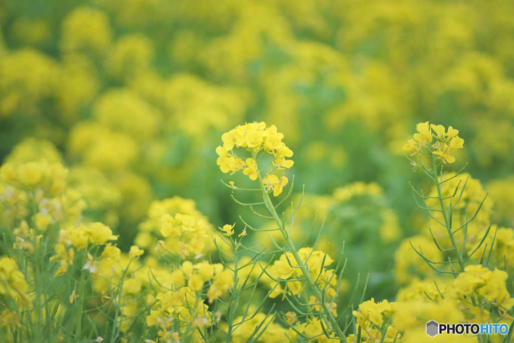
[[(334, 260), (319, 250), (312, 248), (301, 248), (298, 250), (302, 264), (314, 280), (319, 290), (323, 290), (327, 299), (336, 295), (337, 278), (333, 277), (334, 269), (327, 269)], [(275, 281), (271, 283), (271, 298), (275, 298), (280, 294), (290, 294), (300, 296), (306, 290), (307, 284), (303, 281), (302, 270), (296, 262), (291, 252), (281, 255), (277, 261), (267, 270), (269, 276)], [(290, 279), (290, 280), (289, 280)], [(284, 283), (284, 288), (281, 283)]]

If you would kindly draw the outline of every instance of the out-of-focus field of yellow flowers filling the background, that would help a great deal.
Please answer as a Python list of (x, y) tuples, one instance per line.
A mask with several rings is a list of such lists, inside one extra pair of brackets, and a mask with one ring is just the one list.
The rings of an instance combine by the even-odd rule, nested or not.
[(425, 220), (401, 150), (416, 123), (460, 130), (449, 170), (467, 162), (514, 225), (512, 18), (508, 0), (3, 1), (0, 159), (64, 163), (86, 219), (126, 248), (153, 200), (238, 221), (215, 148), (263, 120), (294, 152), (299, 217), (327, 214), (333, 249), (387, 297), (393, 251)]

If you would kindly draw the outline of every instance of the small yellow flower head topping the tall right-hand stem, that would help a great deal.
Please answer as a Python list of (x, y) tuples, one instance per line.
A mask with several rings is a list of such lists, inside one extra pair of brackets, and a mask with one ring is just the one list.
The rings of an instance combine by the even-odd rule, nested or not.
[[(421, 147), (428, 147), (433, 155), (437, 155), (438, 159), (443, 160), (443, 163), (454, 163), (455, 157), (452, 155), (455, 150), (461, 149), (464, 144), (464, 139), (457, 136), (458, 130), (448, 127), (448, 131), (443, 125), (428, 124), (427, 122), (419, 123), (416, 125), (416, 130), (413, 138), (407, 141), (402, 150), (409, 152), (415, 150), (411, 156), (415, 155)], [(433, 131), (433, 132), (432, 132)], [(435, 138), (435, 142), (432, 142)]]

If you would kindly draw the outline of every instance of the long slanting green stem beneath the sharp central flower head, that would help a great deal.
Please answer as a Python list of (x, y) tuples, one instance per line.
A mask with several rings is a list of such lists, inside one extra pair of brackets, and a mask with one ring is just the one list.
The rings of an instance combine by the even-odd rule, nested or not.
[[(253, 156), (255, 159), (255, 156)], [(269, 197), (268, 192), (266, 191), (266, 188), (264, 187), (264, 183), (262, 180), (261, 172), (258, 171), (257, 178), (259, 180), (259, 186), (261, 187), (264, 202), (266, 203), (266, 206), (268, 207), (269, 212), (273, 216), (275, 222), (277, 223), (277, 226), (279, 227), (280, 232), (282, 233), (282, 236), (284, 237), (287, 246), (289, 247), (289, 250), (292, 254), (292, 256), (295, 258), (296, 262), (298, 263), (298, 266), (302, 270), (302, 273), (305, 277), (305, 280), (307, 281), (310, 290), (314, 293), (314, 296), (318, 300), (318, 302), (321, 304), (321, 308), (323, 309), (323, 312), (325, 314), (325, 317), (323, 318), (326, 323), (330, 322), (332, 324), (332, 327), (336, 334), (339, 336), (339, 338), (344, 338), (344, 334), (341, 331), (341, 328), (339, 327), (339, 324), (337, 323), (336, 318), (330, 312), (330, 310), (327, 308), (326, 303), (323, 299), (323, 295), (318, 290), (318, 287), (316, 286), (314, 280), (310, 277), (309, 270), (305, 266), (305, 264), (302, 262), (302, 259), (300, 258), (300, 255), (298, 254), (297, 249), (295, 248), (295, 245), (292, 243), (292, 241), (289, 239), (289, 235), (287, 234), (287, 231), (284, 229), (284, 225), (282, 224), (282, 221), (277, 214), (277, 211), (275, 210), (275, 207), (273, 206), (273, 203), (271, 202), (271, 199)]]

